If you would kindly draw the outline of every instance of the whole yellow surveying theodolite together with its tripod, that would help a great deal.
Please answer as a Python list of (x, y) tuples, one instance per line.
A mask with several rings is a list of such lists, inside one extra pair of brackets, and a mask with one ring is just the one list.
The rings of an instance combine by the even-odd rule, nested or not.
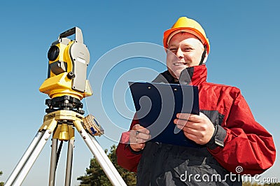
[[(69, 36), (75, 34), (72, 41)], [(48, 78), (40, 92), (48, 94), (45, 100), (46, 115), (36, 136), (18, 162), (5, 185), (21, 185), (33, 166), (45, 143), (52, 135), (49, 185), (55, 185), (55, 172), (63, 141), (68, 141), (65, 185), (71, 185), (73, 160), (74, 128), (77, 129), (87, 147), (99, 162), (113, 185), (126, 185), (116, 168), (107, 157), (94, 136), (101, 136), (104, 130), (92, 115), (83, 116), (81, 100), (92, 95), (87, 80), (87, 66), (90, 52), (83, 43), (83, 34), (78, 27), (73, 27), (59, 34), (48, 50)], [(60, 141), (57, 150), (57, 142)]]

